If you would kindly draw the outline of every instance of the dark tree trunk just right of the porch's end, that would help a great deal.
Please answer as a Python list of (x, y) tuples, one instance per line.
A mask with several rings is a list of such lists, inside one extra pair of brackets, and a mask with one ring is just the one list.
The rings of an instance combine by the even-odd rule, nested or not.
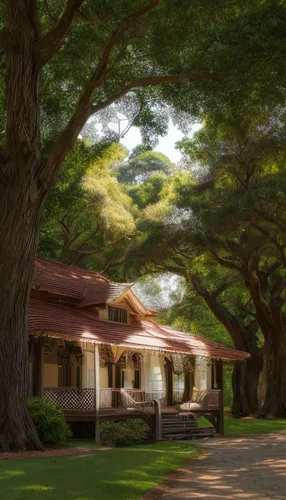
[(233, 417), (246, 417), (257, 412), (259, 408), (257, 389), (262, 367), (263, 360), (256, 355), (245, 361), (235, 362), (232, 374)]

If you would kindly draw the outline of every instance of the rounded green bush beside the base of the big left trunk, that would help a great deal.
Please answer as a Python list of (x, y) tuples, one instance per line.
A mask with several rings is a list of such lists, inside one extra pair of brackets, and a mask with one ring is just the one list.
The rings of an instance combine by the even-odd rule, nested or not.
[(28, 408), (43, 443), (66, 444), (72, 433), (60, 410), (46, 398), (32, 398)]

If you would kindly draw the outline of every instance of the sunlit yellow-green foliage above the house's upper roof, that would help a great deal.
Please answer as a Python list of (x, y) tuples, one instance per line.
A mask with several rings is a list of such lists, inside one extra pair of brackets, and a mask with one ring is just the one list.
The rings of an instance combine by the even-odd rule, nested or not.
[[(132, 201), (114, 176), (126, 156), (118, 143), (78, 141), (44, 205), (39, 254), (98, 269), (134, 230)], [(106, 252), (102, 258), (102, 252)]]

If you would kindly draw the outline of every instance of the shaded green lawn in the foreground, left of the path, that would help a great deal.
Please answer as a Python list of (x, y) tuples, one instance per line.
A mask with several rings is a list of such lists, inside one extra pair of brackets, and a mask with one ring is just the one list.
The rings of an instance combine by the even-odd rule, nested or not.
[(188, 443), (0, 462), (1, 500), (138, 500), (196, 454)]

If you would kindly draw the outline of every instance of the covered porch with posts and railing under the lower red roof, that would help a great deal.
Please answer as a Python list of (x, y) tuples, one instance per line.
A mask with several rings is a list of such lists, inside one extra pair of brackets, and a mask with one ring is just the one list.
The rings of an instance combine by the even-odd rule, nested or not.
[(220, 360), (50, 335), (31, 336), (29, 345), (30, 395), (47, 397), (69, 422), (143, 418), (154, 429), (156, 419), (162, 427), (165, 415), (180, 415), (179, 405), (204, 391), (203, 413), (223, 432)]

